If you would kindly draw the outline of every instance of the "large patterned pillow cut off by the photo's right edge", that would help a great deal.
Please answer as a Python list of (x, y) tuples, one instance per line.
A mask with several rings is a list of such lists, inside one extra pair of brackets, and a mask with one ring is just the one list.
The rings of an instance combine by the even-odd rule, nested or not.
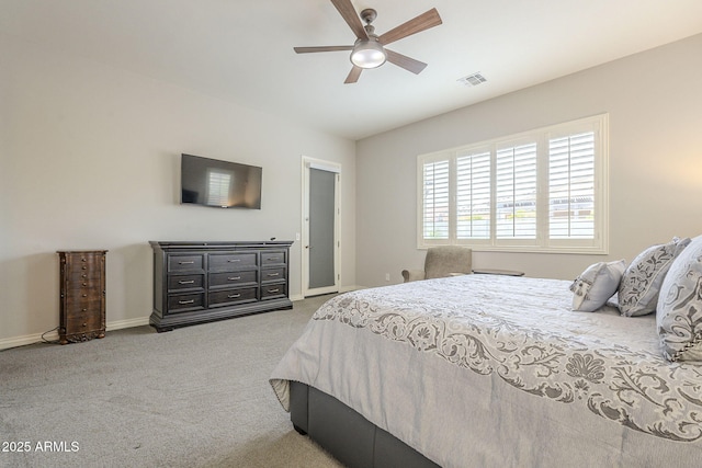
[(702, 361), (702, 236), (672, 262), (660, 288), (656, 324), (668, 361)]

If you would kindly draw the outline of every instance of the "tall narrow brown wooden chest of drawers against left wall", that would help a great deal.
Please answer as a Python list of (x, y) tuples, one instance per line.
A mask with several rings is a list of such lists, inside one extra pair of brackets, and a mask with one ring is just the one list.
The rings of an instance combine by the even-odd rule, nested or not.
[(105, 335), (106, 250), (59, 251), (61, 344)]

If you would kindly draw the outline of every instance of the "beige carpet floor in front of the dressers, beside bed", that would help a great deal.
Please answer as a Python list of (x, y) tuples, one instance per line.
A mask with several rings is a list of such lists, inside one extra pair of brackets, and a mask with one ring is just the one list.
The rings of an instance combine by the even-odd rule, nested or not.
[(293, 430), (268, 383), (328, 298), (1, 351), (0, 466), (340, 467)]

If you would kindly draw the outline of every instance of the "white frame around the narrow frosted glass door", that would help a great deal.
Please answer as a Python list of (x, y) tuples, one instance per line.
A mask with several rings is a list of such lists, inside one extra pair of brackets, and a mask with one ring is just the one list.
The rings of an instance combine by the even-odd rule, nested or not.
[[(322, 171), (333, 172), (337, 174), (335, 180), (335, 220), (333, 220), (333, 286), (309, 288), (309, 170), (318, 169)], [(318, 296), (321, 294), (338, 293), (341, 284), (341, 164), (321, 159), (302, 158), (302, 293), (303, 297)]]

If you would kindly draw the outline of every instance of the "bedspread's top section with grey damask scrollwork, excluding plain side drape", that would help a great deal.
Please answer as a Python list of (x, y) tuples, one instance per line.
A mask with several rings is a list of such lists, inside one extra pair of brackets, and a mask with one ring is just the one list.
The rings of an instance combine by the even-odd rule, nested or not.
[(664, 361), (653, 320), (569, 310), (568, 284), (483, 275), (427, 281), (347, 293), (313, 320), (365, 329), (635, 431), (701, 438), (702, 366)]

